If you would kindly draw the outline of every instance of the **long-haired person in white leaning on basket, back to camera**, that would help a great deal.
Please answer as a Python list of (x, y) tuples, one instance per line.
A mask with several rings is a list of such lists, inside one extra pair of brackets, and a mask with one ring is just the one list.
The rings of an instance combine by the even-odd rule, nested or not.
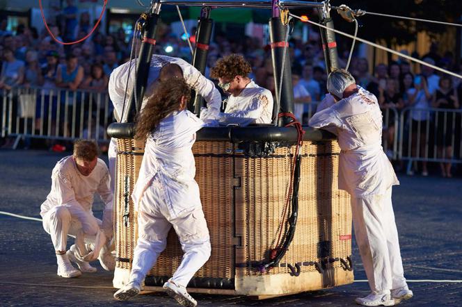
[(184, 256), (164, 289), (184, 306), (197, 302), (186, 285), (210, 256), (210, 239), (192, 152), (196, 131), (204, 123), (185, 110), (190, 88), (182, 78), (160, 82), (136, 121), (136, 138), (147, 139), (143, 163), (132, 194), (138, 211), (138, 242), (129, 283), (114, 297), (126, 300), (141, 289), (143, 279), (166, 248), (173, 226)]

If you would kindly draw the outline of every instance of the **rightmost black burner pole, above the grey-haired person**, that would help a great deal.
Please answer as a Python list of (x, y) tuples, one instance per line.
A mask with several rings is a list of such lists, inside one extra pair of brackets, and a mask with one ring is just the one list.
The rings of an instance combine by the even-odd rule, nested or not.
[[(330, 17), (330, 4), (329, 1), (324, 2), (324, 8), (318, 10), (319, 22), (329, 29), (334, 28), (334, 22)], [(324, 60), (326, 61), (327, 74), (333, 69), (340, 68), (338, 64), (337, 42), (335, 42), (335, 32), (319, 28), (321, 32), (322, 49), (324, 52)]]

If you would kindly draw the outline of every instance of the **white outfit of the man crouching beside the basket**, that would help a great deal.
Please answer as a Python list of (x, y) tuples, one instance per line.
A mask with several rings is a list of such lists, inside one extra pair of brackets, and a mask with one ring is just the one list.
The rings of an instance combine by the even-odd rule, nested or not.
[[(67, 234), (83, 235), (87, 242), (94, 242), (101, 229), (107, 238), (112, 237), (113, 194), (110, 182), (106, 164), (99, 158), (88, 176), (79, 172), (72, 156), (56, 163), (51, 173), (51, 191), (40, 206), (43, 228), (51, 235), (56, 251), (66, 250)], [(105, 204), (102, 221), (92, 211), (95, 192)]]

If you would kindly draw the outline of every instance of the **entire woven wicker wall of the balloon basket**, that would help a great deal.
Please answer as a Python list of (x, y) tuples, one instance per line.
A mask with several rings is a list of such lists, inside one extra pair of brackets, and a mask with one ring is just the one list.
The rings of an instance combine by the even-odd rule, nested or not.
[[(140, 144), (136, 145), (140, 148), (136, 152), (143, 152)], [(230, 279), (234, 278), (234, 274), (261, 274), (250, 267), (234, 269), (234, 263), (241, 265), (264, 260), (276, 240), (294, 147), (279, 148), (266, 158), (246, 158), (233, 156), (232, 146), (229, 142), (196, 142), (193, 147), (196, 181), (212, 243), (212, 256), (198, 271), (197, 277)], [(119, 151), (134, 152), (134, 148), (133, 140), (118, 141)], [(301, 264), (301, 272), (310, 272), (316, 270), (314, 265), (303, 263), (321, 263), (329, 258), (351, 255), (349, 195), (337, 190), (339, 153), (340, 148), (335, 141), (304, 142), (294, 240), (281, 260), (282, 266), (266, 274), (288, 273), (286, 263)], [(131, 199), (129, 224), (124, 224), (124, 195), (132, 193), (140, 165), (141, 156), (118, 155), (116, 252), (118, 257), (130, 260), (133, 258), (137, 227)], [(172, 276), (180, 265), (182, 254), (172, 229), (167, 248), (149, 275)], [(131, 263), (118, 261), (117, 265), (129, 269)], [(327, 265), (340, 266), (338, 260)]]

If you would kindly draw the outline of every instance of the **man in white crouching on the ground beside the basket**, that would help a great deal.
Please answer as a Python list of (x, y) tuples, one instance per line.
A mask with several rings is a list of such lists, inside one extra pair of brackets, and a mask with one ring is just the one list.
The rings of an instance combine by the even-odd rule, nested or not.
[[(77, 140), (72, 156), (56, 163), (51, 174), (51, 192), (40, 207), (40, 215), (56, 250), (59, 276), (72, 278), (81, 272), (96, 272), (96, 267), (88, 261), (97, 258), (104, 269), (114, 269), (116, 261), (109, 250), (113, 235), (110, 182), (108, 168), (98, 158), (97, 144), (93, 141)], [(102, 221), (93, 216), (95, 192), (105, 204)], [(66, 252), (67, 235), (75, 236), (76, 240)]]

